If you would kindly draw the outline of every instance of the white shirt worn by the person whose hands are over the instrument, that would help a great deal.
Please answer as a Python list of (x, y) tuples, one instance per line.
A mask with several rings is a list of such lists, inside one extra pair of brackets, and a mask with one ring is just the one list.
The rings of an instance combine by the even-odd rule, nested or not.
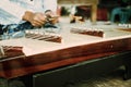
[[(0, 23), (19, 23), (22, 21), (22, 16), (27, 10), (33, 12), (45, 12), (46, 10), (52, 10), (53, 12), (57, 12), (57, 0), (2, 0), (0, 3)], [(8, 21), (8, 18), (10, 18), (10, 21)]]

